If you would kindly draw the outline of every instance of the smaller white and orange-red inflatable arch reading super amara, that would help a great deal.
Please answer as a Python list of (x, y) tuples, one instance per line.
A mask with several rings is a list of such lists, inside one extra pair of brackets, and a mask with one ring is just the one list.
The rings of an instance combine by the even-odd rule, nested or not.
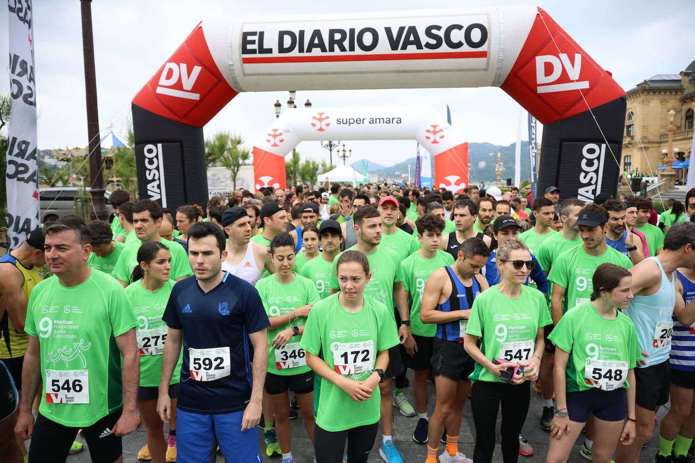
[(468, 143), (461, 133), (430, 106), (379, 106), (283, 112), (254, 143), (256, 190), (285, 186), (285, 156), (304, 140), (417, 140), (434, 156), (436, 187), (457, 192), (468, 186)]

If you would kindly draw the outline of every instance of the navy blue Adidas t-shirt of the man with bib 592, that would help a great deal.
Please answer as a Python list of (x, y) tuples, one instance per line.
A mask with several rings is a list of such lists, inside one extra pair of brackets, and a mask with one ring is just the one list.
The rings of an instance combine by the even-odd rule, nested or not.
[[(200, 414), (244, 410), (253, 383), (248, 335), (270, 326), (256, 288), (224, 272), (220, 284), (206, 293), (197, 278), (190, 276), (174, 285), (162, 319), (169, 328), (183, 330), (177, 406)], [(229, 376), (211, 381), (191, 378), (189, 348), (220, 347), (229, 348)]]

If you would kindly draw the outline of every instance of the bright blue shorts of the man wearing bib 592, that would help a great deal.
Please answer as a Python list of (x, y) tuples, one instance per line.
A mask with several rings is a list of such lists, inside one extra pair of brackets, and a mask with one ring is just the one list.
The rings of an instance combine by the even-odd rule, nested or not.
[(259, 428), (241, 431), (244, 412), (198, 414), (177, 407), (177, 462), (208, 463), (213, 439), (228, 462), (260, 463)]

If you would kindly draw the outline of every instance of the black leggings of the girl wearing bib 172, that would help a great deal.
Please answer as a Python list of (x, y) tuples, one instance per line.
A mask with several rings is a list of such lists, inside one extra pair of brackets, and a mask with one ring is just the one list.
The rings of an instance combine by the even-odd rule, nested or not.
[(343, 463), (346, 436), (347, 461), (366, 463), (377, 438), (378, 428), (379, 421), (374, 424), (335, 432), (323, 430), (317, 424), (313, 431), (313, 441), (315, 442), (313, 451), (316, 453), (316, 463)]

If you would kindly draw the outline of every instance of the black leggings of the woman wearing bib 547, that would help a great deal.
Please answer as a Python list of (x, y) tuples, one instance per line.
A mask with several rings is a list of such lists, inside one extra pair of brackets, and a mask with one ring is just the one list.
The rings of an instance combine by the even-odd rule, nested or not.
[(497, 411), (502, 405), (502, 461), (516, 463), (519, 456), (519, 433), (528, 414), (531, 400), (529, 382), (476, 381), (471, 391), (471, 410), (475, 421), (475, 463), (490, 463), (495, 450)]

